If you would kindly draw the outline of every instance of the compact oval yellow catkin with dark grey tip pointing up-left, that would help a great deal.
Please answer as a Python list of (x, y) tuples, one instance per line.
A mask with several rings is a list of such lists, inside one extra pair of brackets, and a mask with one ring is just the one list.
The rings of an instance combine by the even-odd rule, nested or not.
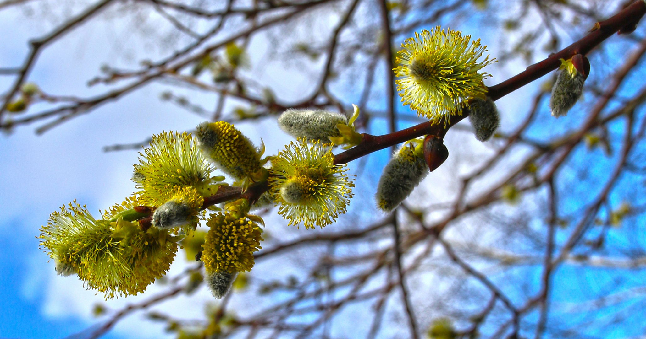
[(234, 179), (254, 177), (262, 171), (260, 153), (229, 122), (203, 122), (197, 126), (195, 135), (217, 168)]

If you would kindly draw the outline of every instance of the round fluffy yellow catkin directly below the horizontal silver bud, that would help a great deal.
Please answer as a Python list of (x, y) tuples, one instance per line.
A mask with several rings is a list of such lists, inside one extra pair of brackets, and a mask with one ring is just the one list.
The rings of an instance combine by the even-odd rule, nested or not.
[(324, 227), (346, 213), (355, 185), (344, 173), (346, 166), (334, 164), (331, 148), (320, 140), (307, 144), (298, 139), (271, 161), (269, 186), (280, 204), (278, 214), (289, 225)]

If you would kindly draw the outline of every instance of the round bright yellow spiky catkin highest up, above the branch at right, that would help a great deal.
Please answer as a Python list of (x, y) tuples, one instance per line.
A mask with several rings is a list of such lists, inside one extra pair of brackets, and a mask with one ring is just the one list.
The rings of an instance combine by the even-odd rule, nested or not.
[(395, 59), (402, 64), (395, 68), (395, 75), (402, 79), (395, 82), (404, 105), (433, 122), (446, 118), (446, 124), (451, 115), (462, 113), (468, 99), (485, 95), (483, 79), (490, 75), (478, 71), (494, 59), (487, 55), (478, 63), (486, 46), (480, 45), (480, 39), (470, 40), (470, 35), (463, 37), (439, 26), (406, 39)]

